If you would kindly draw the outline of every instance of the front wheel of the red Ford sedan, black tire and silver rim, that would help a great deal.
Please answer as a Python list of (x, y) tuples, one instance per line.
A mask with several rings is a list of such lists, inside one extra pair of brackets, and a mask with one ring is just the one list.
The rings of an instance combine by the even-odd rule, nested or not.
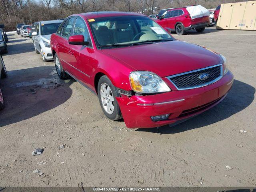
[(120, 94), (110, 81), (110, 79), (104, 75), (98, 82), (98, 98), (102, 111), (111, 120), (119, 120), (122, 118), (122, 113), (116, 97)]

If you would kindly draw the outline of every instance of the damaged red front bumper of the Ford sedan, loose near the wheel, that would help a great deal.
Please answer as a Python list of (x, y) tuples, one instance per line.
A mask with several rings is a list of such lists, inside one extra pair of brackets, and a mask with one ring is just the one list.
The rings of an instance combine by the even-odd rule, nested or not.
[[(212, 108), (225, 98), (232, 84), (233, 74), (228, 72), (214, 84), (201, 88), (148, 96), (122, 95), (116, 99), (128, 128), (152, 128), (172, 124)], [(170, 114), (167, 120), (154, 122), (150, 118), (164, 114)]]

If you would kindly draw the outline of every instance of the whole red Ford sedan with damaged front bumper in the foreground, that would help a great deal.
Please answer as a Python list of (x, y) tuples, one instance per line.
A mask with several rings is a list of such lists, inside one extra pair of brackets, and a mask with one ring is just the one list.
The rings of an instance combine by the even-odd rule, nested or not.
[(151, 128), (200, 114), (233, 83), (226, 59), (175, 40), (150, 18), (128, 12), (71, 15), (51, 36), (56, 71), (98, 95), (104, 114)]

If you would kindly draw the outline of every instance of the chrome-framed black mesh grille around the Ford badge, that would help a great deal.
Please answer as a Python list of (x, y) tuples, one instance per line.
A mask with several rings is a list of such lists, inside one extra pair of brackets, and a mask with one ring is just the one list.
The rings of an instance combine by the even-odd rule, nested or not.
[[(208, 74), (209, 77), (205, 80), (201, 80), (199, 76), (202, 74)], [(169, 76), (168, 79), (176, 86), (178, 90), (184, 90), (212, 84), (219, 80), (221, 76), (222, 64)]]

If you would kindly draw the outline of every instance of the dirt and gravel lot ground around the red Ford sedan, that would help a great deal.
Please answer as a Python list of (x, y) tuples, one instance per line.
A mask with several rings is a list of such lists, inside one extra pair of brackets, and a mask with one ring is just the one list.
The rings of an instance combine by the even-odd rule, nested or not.
[[(256, 32), (173, 36), (222, 53), (235, 80), (220, 104), (158, 134), (108, 120), (96, 95), (59, 80), (31, 39), (10, 34), (0, 186), (256, 186)], [(32, 156), (35, 148), (43, 154)]]

